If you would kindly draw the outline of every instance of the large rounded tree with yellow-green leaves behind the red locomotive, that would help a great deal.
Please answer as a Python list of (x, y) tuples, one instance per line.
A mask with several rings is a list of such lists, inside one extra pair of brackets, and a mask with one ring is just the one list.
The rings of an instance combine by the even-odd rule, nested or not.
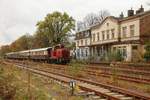
[(43, 21), (37, 23), (37, 30), (48, 38), (51, 45), (67, 42), (74, 28), (75, 20), (67, 13), (60, 12), (47, 14)]

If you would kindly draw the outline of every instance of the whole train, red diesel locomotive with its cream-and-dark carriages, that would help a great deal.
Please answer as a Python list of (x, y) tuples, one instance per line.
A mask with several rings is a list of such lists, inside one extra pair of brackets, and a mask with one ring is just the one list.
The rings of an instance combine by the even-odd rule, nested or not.
[(70, 50), (59, 44), (54, 47), (11, 52), (6, 54), (8, 59), (44, 61), (49, 63), (68, 63)]

